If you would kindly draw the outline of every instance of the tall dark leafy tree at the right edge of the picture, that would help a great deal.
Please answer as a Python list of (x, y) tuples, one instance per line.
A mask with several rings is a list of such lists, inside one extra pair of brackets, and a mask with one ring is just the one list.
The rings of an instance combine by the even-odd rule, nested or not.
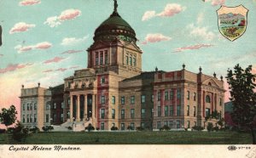
[(253, 144), (256, 144), (256, 134), (253, 132), (253, 123), (256, 119), (256, 93), (255, 78), (251, 73), (252, 65), (245, 70), (240, 65), (234, 67), (234, 71), (228, 70), (226, 76), (230, 89), (230, 101), (233, 103), (232, 120), (238, 127), (251, 130)]

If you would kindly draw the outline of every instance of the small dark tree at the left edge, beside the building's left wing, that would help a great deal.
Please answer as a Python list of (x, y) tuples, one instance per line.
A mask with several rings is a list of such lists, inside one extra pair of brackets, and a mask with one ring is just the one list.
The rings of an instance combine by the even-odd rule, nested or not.
[(18, 113), (15, 108), (15, 105), (11, 105), (9, 109), (3, 108), (2, 113), (0, 113), (1, 123), (4, 124), (6, 126), (6, 128), (8, 129), (8, 127), (10, 125), (15, 123), (15, 120), (17, 119), (16, 114), (18, 114)]

